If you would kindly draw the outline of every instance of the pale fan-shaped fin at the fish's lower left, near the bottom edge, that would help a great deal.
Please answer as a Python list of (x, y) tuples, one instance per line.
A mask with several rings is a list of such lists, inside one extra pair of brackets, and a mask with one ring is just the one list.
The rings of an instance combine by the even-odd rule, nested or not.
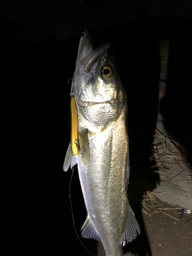
[(81, 236), (83, 238), (93, 238), (97, 241), (100, 241), (100, 237), (97, 231), (95, 230), (93, 223), (90, 221), (88, 217), (84, 222), (84, 224), (82, 225), (81, 230), (82, 230)]

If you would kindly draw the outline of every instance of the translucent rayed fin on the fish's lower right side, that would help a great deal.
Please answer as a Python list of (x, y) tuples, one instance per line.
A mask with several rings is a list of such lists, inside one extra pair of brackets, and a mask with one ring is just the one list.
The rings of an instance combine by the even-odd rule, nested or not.
[[(129, 204), (128, 206), (128, 214), (127, 214), (127, 220), (126, 220), (126, 226), (125, 231), (122, 236), (122, 243), (123, 245), (126, 244), (126, 242), (131, 242), (133, 239), (137, 237), (138, 234), (141, 233), (139, 224), (135, 218), (134, 212)], [(126, 241), (125, 241), (126, 240)]]

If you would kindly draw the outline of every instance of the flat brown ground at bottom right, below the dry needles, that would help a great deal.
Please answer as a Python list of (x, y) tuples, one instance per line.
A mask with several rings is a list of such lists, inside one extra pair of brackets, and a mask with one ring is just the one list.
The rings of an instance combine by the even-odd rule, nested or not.
[(191, 256), (192, 215), (184, 212), (180, 219), (181, 209), (169, 207), (161, 202), (156, 207), (161, 210), (155, 210), (153, 207), (151, 214), (143, 215), (152, 254), (153, 256)]

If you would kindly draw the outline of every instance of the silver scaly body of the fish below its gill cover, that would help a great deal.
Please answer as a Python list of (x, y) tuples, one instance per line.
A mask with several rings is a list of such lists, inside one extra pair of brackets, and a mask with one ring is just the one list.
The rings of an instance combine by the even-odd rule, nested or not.
[(126, 108), (104, 131), (89, 137), (89, 148), (78, 157), (78, 172), (88, 218), (106, 255), (122, 254), (127, 218), (125, 188), (128, 136)]

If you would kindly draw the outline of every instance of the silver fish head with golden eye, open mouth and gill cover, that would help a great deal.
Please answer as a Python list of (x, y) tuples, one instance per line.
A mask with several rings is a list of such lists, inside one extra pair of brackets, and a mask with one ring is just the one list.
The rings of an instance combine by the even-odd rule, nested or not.
[(87, 31), (80, 39), (71, 95), (79, 118), (92, 133), (103, 131), (115, 121), (125, 102), (109, 42), (93, 50)]

